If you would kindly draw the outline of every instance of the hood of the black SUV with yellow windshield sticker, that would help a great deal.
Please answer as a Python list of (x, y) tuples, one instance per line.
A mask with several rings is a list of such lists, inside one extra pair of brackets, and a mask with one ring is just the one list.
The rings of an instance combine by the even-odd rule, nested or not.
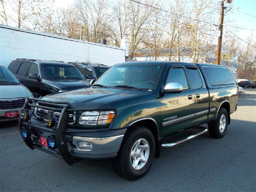
[(73, 90), (79, 88), (88, 87), (89, 84), (86, 84), (85, 80), (65, 80), (65, 79), (58, 79), (58, 80), (45, 80), (47, 84), (50, 84), (60, 90)]

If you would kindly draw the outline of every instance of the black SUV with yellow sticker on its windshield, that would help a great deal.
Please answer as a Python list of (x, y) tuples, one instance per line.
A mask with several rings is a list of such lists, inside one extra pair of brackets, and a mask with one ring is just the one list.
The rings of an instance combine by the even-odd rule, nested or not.
[(36, 97), (89, 86), (77, 68), (65, 62), (16, 59), (8, 69)]

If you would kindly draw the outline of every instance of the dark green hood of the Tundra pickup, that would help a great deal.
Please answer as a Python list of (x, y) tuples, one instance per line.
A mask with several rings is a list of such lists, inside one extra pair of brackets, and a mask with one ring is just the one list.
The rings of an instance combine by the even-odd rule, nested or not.
[(109, 106), (108, 104), (124, 98), (146, 94), (148, 92), (139, 90), (121, 90), (112, 88), (84, 88), (51, 94), (42, 97), (48, 101), (67, 101), (74, 108), (96, 108)]

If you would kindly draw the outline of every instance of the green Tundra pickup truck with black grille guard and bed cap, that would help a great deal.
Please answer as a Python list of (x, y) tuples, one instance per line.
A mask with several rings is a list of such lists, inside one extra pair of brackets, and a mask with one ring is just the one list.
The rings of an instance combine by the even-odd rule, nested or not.
[(146, 174), (160, 147), (206, 131), (222, 138), (237, 108), (236, 84), (220, 65), (126, 62), (90, 84), (30, 98), (20, 116), (20, 134), (32, 150), (70, 165), (112, 158), (116, 172), (128, 180)]

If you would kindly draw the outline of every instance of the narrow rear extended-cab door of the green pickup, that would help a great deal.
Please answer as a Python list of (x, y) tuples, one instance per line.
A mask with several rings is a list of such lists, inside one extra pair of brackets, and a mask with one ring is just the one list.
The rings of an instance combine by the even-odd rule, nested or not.
[(196, 101), (194, 125), (204, 124), (208, 120), (209, 92), (198, 66), (194, 64), (186, 65), (186, 70)]

